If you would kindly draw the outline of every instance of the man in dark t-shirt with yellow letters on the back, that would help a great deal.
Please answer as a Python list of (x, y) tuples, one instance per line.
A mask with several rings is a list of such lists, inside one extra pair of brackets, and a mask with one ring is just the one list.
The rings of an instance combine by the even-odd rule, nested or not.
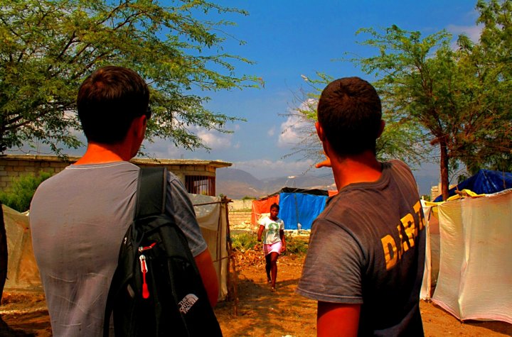
[(316, 131), (338, 194), (315, 220), (297, 292), (318, 301), (319, 336), (422, 336), (425, 226), (403, 162), (379, 162), (380, 99), (358, 77), (322, 92)]

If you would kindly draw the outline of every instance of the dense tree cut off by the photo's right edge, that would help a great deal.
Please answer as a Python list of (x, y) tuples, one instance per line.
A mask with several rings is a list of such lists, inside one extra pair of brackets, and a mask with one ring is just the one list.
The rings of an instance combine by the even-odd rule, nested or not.
[(483, 144), (464, 160), (471, 173), (479, 167), (512, 171), (512, 1), (479, 0), (477, 23), (483, 26), (478, 44), (459, 38), (464, 62), (478, 71), (482, 109), (501, 118), (502, 127), (481, 134)]

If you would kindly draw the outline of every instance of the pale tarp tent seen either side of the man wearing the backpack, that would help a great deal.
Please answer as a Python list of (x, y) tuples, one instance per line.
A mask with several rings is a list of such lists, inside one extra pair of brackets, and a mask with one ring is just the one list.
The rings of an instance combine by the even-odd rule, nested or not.
[[(228, 294), (228, 248), (226, 243), (228, 218), (225, 203), (220, 197), (188, 194), (194, 205), (203, 237), (217, 271), (219, 295), (225, 299)], [(32, 250), (32, 238), (28, 216), (2, 205), (6, 226), (7, 280), (4, 291), (42, 292), (41, 278)]]

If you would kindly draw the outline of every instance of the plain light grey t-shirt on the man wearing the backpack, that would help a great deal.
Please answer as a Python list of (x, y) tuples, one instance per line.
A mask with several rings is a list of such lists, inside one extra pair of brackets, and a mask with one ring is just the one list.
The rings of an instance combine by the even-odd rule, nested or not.
[[(130, 162), (70, 165), (34, 194), (33, 251), (53, 336), (102, 336), (119, 248), (134, 218), (138, 175)], [(176, 176), (168, 180), (166, 209), (196, 256), (207, 246), (193, 205)]]

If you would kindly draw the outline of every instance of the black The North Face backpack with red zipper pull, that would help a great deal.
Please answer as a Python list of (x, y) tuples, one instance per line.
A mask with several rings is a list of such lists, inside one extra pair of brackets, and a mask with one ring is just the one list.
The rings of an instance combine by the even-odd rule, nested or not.
[(105, 309), (122, 336), (222, 336), (183, 232), (165, 212), (167, 170), (142, 168), (137, 209)]

